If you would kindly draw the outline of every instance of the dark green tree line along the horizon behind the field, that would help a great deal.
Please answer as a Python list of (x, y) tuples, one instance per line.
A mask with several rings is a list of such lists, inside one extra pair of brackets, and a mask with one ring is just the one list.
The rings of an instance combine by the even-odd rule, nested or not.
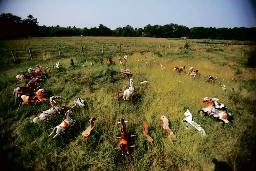
[(53, 37), (53, 36), (130, 36), (130, 37), (163, 37), (190, 39), (220, 39), (220, 40), (249, 40), (255, 41), (255, 27), (193, 27), (188, 28), (178, 24), (150, 25), (144, 28), (133, 28), (130, 25), (117, 27), (115, 30), (100, 24), (92, 28), (76, 28), (57, 26), (39, 26), (37, 18), (28, 15), (23, 19), (11, 13), (0, 15), (0, 39), (23, 37)]

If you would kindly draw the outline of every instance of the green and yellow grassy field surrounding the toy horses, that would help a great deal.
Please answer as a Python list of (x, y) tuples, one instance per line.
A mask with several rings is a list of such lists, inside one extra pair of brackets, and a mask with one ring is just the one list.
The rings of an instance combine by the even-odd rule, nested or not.
[[(121, 52), (119, 45), (122, 45)], [(136, 52), (134, 51), (136, 44)], [(160, 50), (159, 44), (161, 44)], [(170, 44), (170, 49), (169, 49)], [(181, 48), (184, 42), (162, 38), (116, 38), (116, 37), (65, 37), (30, 38), (1, 41), (0, 55), (4, 61), (0, 72), (1, 110), (1, 162), (10, 170), (214, 170), (212, 160), (228, 163), (232, 170), (255, 169), (255, 67), (249, 68), (248, 55), (255, 55), (255, 46), (232, 45), (225, 48), (209, 48), (191, 43), (189, 49)], [(118, 58), (128, 54), (127, 67), (133, 72), (134, 87), (140, 89), (140, 98), (130, 106), (128, 101), (117, 102), (117, 92), (129, 86), (129, 79), (120, 77), (124, 66), (102, 65), (101, 46), (105, 56)], [(150, 52), (146, 52), (150, 45)], [(164, 48), (165, 45), (165, 48)], [(81, 46), (85, 55), (81, 56)], [(63, 49), (58, 57), (57, 48)], [(32, 61), (11, 61), (10, 49), (32, 48)], [(54, 51), (54, 52), (53, 52)], [(55, 52), (56, 51), (56, 52)], [(50, 53), (51, 52), (51, 53)], [(57, 53), (57, 54), (55, 54)], [(70, 67), (70, 58), (76, 67)], [(145, 62), (156, 62), (151, 68)], [(255, 56), (254, 56), (255, 61)], [(27, 72), (40, 64), (45, 69), (60, 62), (62, 70), (51, 68), (51, 73), (39, 85), (47, 97), (61, 96), (58, 102), (67, 105), (78, 97), (86, 107), (72, 109), (72, 119), (78, 127), (70, 127), (64, 136), (48, 137), (47, 129), (61, 123), (60, 115), (51, 116), (42, 125), (30, 123), (38, 109), (48, 110), (37, 104), (34, 108), (22, 106), (16, 111), (11, 95), (17, 86), (16, 75)], [(93, 62), (94, 65), (90, 66)], [(255, 62), (254, 62), (255, 63)], [(85, 64), (86, 67), (83, 67)], [(163, 64), (166, 68), (161, 69)], [(201, 76), (195, 79), (171, 71), (175, 66), (193, 66)], [(103, 71), (107, 75), (103, 76)], [(206, 83), (204, 77), (213, 75), (216, 84)], [(148, 85), (139, 83), (148, 81)], [(222, 82), (227, 91), (218, 85)], [(20, 84), (21, 85), (21, 84)], [(231, 89), (234, 88), (234, 91)], [(205, 107), (204, 97), (219, 98), (232, 113), (232, 123), (222, 123), (212, 117), (196, 114)], [(19, 99), (20, 100), (20, 99)], [(201, 137), (194, 128), (185, 129), (181, 122), (183, 113), (189, 109), (193, 120), (205, 129)], [(169, 126), (176, 139), (167, 139), (161, 128), (160, 116), (169, 119)], [(89, 119), (96, 117), (96, 128), (86, 144), (81, 133), (89, 126)], [(120, 136), (120, 117), (128, 122), (127, 130), (136, 135), (134, 151), (122, 156), (117, 136)], [(150, 145), (143, 135), (143, 122), (149, 125)], [(221, 165), (221, 163), (217, 163)], [(223, 167), (222, 167), (223, 168)]]

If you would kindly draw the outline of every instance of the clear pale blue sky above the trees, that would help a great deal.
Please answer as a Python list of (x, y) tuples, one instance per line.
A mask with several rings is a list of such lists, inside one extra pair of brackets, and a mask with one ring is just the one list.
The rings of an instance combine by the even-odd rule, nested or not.
[(255, 27), (255, 0), (0, 0), (0, 13), (37, 18), (39, 25), (110, 29), (176, 23), (189, 28)]

